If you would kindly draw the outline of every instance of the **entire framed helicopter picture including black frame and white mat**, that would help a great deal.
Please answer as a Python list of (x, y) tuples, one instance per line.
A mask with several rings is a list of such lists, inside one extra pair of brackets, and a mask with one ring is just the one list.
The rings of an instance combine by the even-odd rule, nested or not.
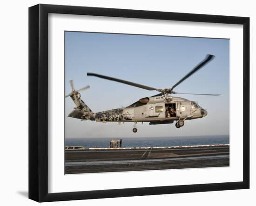
[(249, 188), (249, 18), (29, 8), (29, 198)]

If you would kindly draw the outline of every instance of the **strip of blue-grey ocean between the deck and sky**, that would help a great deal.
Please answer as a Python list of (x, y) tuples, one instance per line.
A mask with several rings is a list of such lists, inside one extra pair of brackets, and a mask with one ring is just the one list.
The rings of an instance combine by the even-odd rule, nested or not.
[(229, 135), (179, 137), (66, 138), (65, 146), (109, 147), (111, 140), (122, 139), (122, 147), (189, 146), (229, 144)]

